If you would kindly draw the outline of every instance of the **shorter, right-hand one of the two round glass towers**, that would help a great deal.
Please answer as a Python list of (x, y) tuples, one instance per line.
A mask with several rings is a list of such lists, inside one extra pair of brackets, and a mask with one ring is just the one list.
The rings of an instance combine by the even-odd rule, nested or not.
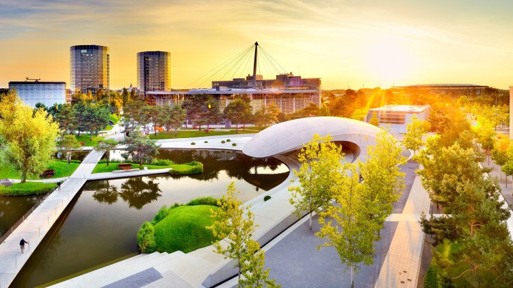
[(150, 91), (169, 91), (171, 53), (145, 51), (137, 53), (137, 84), (141, 94)]

